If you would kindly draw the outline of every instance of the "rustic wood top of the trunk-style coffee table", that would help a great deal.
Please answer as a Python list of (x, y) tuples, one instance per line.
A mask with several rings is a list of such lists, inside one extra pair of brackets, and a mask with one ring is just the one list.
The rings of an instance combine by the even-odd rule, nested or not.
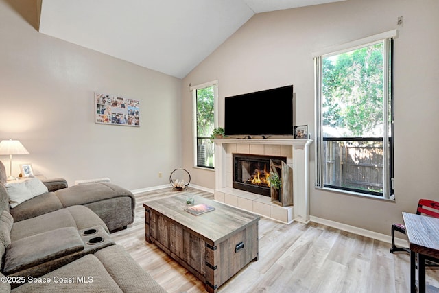
[(215, 207), (215, 210), (201, 215), (193, 215), (185, 211), (185, 208), (190, 207), (186, 204), (186, 194), (146, 202), (143, 207), (165, 215), (170, 220), (189, 228), (199, 237), (215, 244), (261, 219), (254, 213), (241, 211), (201, 196), (194, 196), (194, 198), (194, 204), (209, 204)]

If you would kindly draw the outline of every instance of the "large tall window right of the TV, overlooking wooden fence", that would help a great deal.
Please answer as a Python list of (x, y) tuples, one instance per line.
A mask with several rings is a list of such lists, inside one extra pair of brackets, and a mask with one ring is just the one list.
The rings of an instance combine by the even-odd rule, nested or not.
[(390, 198), (393, 38), (316, 56), (316, 186)]

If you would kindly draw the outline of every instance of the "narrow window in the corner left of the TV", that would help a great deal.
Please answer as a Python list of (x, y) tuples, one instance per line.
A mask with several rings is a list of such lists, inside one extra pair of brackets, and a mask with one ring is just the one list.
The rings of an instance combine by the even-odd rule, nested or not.
[(191, 87), (194, 101), (194, 165), (215, 168), (215, 143), (210, 139), (217, 125), (217, 82)]

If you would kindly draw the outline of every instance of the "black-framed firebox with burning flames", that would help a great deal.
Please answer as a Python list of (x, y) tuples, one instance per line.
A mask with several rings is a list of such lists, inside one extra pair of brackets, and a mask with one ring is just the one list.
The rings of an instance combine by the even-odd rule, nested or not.
[(271, 196), (268, 177), (270, 170), (277, 168), (281, 161), (287, 162), (284, 156), (263, 156), (254, 154), (233, 154), (233, 188)]

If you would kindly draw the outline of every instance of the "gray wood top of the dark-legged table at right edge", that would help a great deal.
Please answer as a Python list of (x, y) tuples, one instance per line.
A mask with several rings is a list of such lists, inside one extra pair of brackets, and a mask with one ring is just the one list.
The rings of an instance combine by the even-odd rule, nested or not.
[(439, 258), (439, 219), (403, 212), (410, 250)]

